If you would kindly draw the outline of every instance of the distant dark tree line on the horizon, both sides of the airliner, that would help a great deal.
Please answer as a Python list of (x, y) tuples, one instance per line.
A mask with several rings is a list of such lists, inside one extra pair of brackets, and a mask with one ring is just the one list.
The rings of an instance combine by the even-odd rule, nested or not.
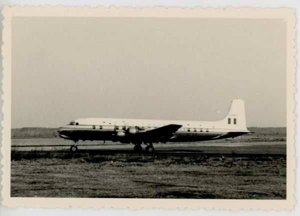
[[(286, 127), (260, 128), (249, 127), (249, 131), (257, 136), (286, 136)], [(14, 128), (11, 129), (11, 138), (55, 138), (58, 137), (57, 128)], [(252, 134), (253, 135), (253, 134)]]

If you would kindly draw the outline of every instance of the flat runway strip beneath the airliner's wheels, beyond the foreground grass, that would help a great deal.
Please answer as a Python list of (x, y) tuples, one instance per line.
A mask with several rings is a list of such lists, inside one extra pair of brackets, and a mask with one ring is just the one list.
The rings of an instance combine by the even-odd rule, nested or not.
[[(52, 141), (55, 141), (52, 140)], [(69, 148), (73, 145), (72, 142), (59, 143), (54, 142), (42, 144), (37, 143), (12, 143), (11, 150), (15, 152), (61, 152), (70, 153)], [(251, 143), (169, 143), (169, 144), (154, 144), (155, 152), (151, 154), (159, 155), (219, 155), (226, 154), (232, 156), (240, 155), (286, 155), (285, 142), (251, 142)], [(141, 154), (149, 154), (144, 151), (145, 145), (142, 145), (143, 151)], [(72, 154), (137, 154), (133, 151), (133, 145), (130, 144), (106, 144), (102, 143), (79, 143), (78, 151)]]

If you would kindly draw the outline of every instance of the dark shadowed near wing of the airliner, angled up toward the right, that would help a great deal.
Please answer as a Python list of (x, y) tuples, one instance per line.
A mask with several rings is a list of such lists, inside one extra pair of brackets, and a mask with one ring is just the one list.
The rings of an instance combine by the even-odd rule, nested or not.
[(182, 125), (165, 125), (145, 132), (144, 139), (148, 142), (167, 142)]

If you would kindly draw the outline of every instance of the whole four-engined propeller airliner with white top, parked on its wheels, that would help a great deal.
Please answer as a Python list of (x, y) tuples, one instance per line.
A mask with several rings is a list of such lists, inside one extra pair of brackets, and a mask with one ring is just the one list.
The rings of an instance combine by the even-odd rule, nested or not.
[(144, 119), (79, 118), (58, 129), (59, 137), (75, 142), (70, 151), (77, 150), (78, 140), (108, 140), (134, 144), (134, 151), (153, 152), (152, 143), (198, 142), (234, 138), (251, 133), (246, 128), (244, 102), (234, 99), (224, 119), (220, 121), (175, 121)]

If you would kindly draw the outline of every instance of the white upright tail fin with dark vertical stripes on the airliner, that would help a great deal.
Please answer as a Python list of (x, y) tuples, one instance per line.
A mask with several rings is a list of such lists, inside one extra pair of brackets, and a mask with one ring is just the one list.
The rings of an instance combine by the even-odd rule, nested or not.
[(246, 128), (246, 119), (245, 119), (245, 107), (244, 102), (241, 99), (234, 99), (231, 101), (231, 105), (226, 117), (221, 120), (222, 124), (227, 125), (235, 129)]

